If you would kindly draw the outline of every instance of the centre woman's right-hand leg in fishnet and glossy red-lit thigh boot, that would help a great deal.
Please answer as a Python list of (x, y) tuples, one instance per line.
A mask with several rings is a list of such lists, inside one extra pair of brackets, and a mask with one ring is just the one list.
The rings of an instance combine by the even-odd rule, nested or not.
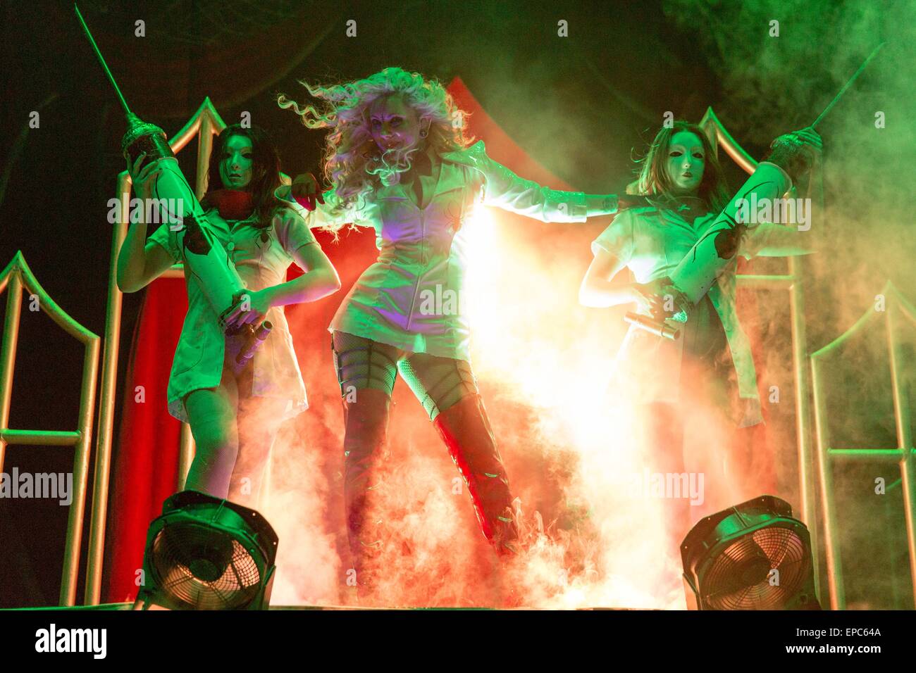
[(471, 364), (413, 353), (398, 368), (458, 466), (484, 536), (497, 553), (513, 553), (518, 528), (512, 516), (512, 495)]

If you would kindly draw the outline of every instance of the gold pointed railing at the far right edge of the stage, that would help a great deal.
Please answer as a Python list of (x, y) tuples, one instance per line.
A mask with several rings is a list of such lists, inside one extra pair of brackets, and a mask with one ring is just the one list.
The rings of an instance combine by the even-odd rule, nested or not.
[[(821, 473), (821, 505), (823, 507), (824, 547), (827, 552), (827, 581), (830, 590), (830, 606), (842, 610), (846, 605), (843, 582), (843, 564), (837, 539), (836, 506), (834, 503), (835, 461), (896, 461), (900, 465), (900, 483), (903, 492), (904, 520), (907, 531), (907, 547), (910, 553), (910, 576), (913, 601), (916, 602), (916, 465), (913, 461), (913, 436), (911, 400), (907, 397), (903, 381), (902, 348), (900, 340), (900, 316), (916, 325), (916, 309), (900, 291), (888, 281), (881, 291), (885, 298), (884, 310), (868, 309), (845, 333), (811, 355), (811, 371), (814, 393), (814, 429), (817, 435), (817, 463)], [(897, 430), (895, 449), (834, 449), (831, 447), (830, 428), (827, 418), (827, 401), (823, 390), (823, 366), (833, 353), (854, 334), (866, 327), (883, 313), (888, 332), (891, 396), (894, 402), (894, 420)]]

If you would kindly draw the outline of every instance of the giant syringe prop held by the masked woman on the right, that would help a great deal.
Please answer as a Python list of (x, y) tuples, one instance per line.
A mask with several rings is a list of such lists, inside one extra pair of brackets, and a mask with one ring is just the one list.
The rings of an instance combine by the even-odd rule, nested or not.
[[(811, 128), (821, 123), (884, 45), (885, 43), (882, 42), (872, 50), (855, 74), (834, 96), (834, 100), (814, 120)], [(768, 200), (779, 199), (790, 188), (791, 179), (783, 170), (769, 162), (759, 163), (741, 189), (737, 191), (735, 198), (729, 201), (725, 210), (719, 214), (706, 233), (693, 245), (690, 252), (684, 255), (681, 263), (669, 275), (668, 279), (671, 280), (671, 284), (667, 285), (662, 293), (671, 297), (673, 310), (656, 312), (651, 316), (629, 311), (624, 316), (624, 320), (660, 337), (677, 339), (681, 334), (678, 323), (688, 320), (693, 307), (700, 303), (709, 288), (713, 286), (716, 277), (734, 259), (741, 236), (744, 230), (749, 228), (747, 203), (764, 203)]]

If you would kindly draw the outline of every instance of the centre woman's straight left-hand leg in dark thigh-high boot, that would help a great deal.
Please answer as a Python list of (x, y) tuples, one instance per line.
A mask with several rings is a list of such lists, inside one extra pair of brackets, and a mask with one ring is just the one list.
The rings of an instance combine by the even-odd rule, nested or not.
[(381, 529), (373, 514), (376, 466), (387, 439), (388, 407), (398, 375), (397, 348), (335, 331), (334, 366), (344, 403), (344, 506), (358, 586), (372, 585)]

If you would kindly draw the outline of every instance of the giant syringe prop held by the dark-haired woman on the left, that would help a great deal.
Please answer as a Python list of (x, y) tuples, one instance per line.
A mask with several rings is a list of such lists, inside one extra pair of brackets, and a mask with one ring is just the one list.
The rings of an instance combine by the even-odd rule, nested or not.
[[(245, 298), (246, 288), (242, 278), (224, 247), (216, 240), (210, 231), (200, 201), (191, 190), (191, 185), (181, 173), (178, 158), (169, 147), (169, 140), (165, 131), (157, 125), (147, 124), (127, 107), (124, 95), (114, 81), (112, 72), (102, 56), (102, 52), (95, 44), (89, 27), (82, 18), (80, 8), (73, 5), (76, 16), (80, 19), (82, 29), (93, 46), (96, 58), (102, 65), (108, 81), (112, 83), (121, 107), (124, 108), (127, 120), (127, 132), (121, 140), (121, 151), (128, 164), (136, 166), (139, 157), (146, 157), (157, 165), (158, 177), (152, 187), (154, 205), (162, 216), (161, 222), (169, 225), (169, 233), (174, 233), (176, 244), (181, 251), (185, 268), (191, 272), (204, 296), (213, 307), (218, 317), (220, 327), (227, 336), (234, 336), (245, 332), (244, 345), (239, 349), (234, 358), (236, 374), (240, 373), (250, 362), (257, 347), (267, 338), (273, 325), (269, 320), (264, 320), (255, 327), (246, 323), (242, 327), (227, 327), (226, 315), (234, 306)], [(139, 166), (136, 166), (139, 169)], [(145, 209), (150, 212), (151, 209)], [(180, 223), (178, 231), (172, 229), (170, 223)]]

